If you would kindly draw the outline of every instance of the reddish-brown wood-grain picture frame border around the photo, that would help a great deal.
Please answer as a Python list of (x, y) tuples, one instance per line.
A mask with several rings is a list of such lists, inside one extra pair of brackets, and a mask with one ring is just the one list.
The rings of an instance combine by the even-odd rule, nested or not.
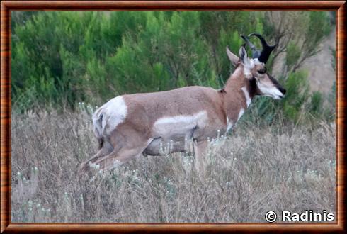
[[(336, 11), (335, 223), (11, 223), (11, 11)], [(345, 233), (346, 1), (1, 1), (1, 233), (326, 232)]]

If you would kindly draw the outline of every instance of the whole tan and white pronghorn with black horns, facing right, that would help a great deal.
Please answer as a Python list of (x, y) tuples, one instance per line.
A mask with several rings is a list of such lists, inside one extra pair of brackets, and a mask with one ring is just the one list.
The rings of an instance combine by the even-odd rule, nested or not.
[[(203, 174), (207, 139), (227, 133), (237, 123), (256, 95), (283, 99), (285, 89), (266, 72), (265, 64), (274, 46), (263, 37), (263, 49), (251, 47), (247, 56), (245, 44), (239, 57), (227, 48), (227, 55), (236, 67), (223, 89), (183, 87), (171, 91), (117, 96), (93, 114), (93, 130), (99, 151), (82, 164), (111, 169), (144, 155), (161, 155), (161, 145), (170, 143), (170, 152), (186, 152), (186, 139), (193, 139), (195, 168)], [(249, 35), (249, 36), (251, 36)]]

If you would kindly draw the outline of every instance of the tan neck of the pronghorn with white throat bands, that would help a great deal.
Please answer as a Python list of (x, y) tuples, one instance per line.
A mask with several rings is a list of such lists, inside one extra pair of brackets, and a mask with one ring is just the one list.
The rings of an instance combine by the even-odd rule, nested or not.
[(234, 124), (246, 111), (256, 95), (256, 82), (254, 79), (246, 79), (243, 74), (243, 67), (239, 66), (229, 77), (224, 91), (223, 102), (227, 121), (232, 121)]

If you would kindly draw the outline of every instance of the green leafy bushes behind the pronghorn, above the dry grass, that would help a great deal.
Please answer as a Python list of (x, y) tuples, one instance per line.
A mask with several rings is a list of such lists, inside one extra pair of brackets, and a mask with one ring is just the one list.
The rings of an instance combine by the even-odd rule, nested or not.
[[(283, 50), (289, 73), (280, 80), (288, 95), (253, 105), (268, 123), (278, 115), (299, 118), (309, 89), (297, 61), (316, 52), (329, 28), (327, 13), (297, 14), (292, 26), (300, 27)], [(280, 33), (264, 12), (14, 12), (12, 27), (12, 104), (20, 112), (74, 109), (82, 101), (100, 105), (119, 94), (196, 84), (220, 88), (233, 69), (225, 48), (237, 53), (240, 34), (262, 33), (274, 44)], [(312, 37), (307, 30), (317, 27), (322, 32), (301, 50), (299, 42)], [(280, 45), (276, 50), (274, 57)], [(269, 71), (272, 63), (271, 57)], [(322, 97), (314, 94), (311, 100), (308, 109), (317, 116)]]

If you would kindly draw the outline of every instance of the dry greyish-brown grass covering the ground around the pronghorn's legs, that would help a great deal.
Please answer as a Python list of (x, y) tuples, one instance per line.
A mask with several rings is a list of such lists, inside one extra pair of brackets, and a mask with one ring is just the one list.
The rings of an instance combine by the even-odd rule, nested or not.
[(236, 127), (210, 152), (139, 157), (77, 176), (96, 152), (87, 112), (12, 118), (12, 222), (265, 222), (266, 211), (336, 212), (335, 126)]

